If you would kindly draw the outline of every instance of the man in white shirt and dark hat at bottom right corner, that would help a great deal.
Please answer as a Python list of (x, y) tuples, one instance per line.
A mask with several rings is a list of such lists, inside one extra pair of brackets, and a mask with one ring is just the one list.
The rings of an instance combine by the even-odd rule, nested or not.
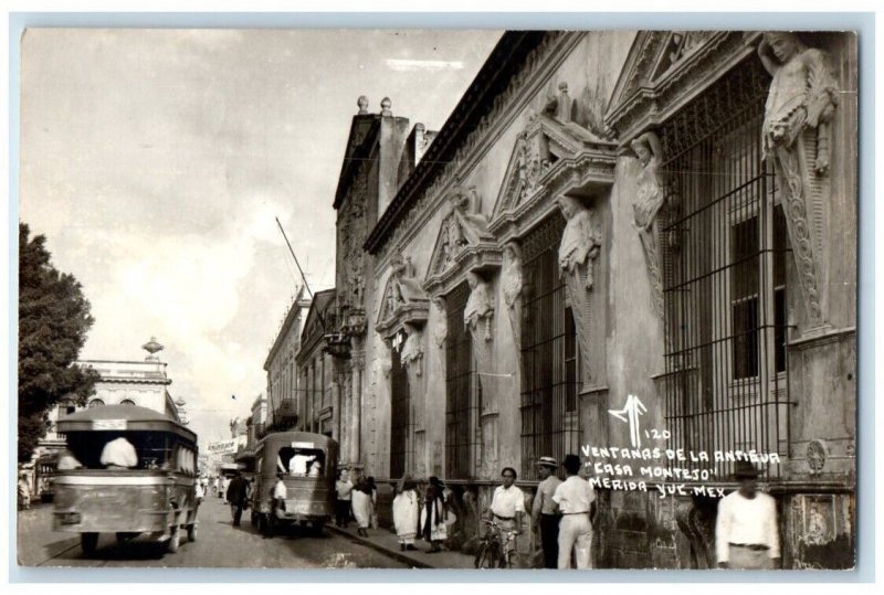
[(758, 491), (758, 470), (747, 460), (734, 472), (739, 489), (718, 502), (715, 552), (722, 569), (769, 570), (780, 564), (777, 502)]

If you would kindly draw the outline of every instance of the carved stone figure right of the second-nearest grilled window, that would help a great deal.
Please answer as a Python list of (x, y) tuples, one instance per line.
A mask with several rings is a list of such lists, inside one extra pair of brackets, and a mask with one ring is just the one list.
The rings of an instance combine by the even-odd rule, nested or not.
[(558, 205), (568, 221), (559, 244), (559, 273), (565, 277), (571, 300), (585, 374), (591, 378), (589, 297), (594, 283), (593, 262), (599, 255), (601, 237), (593, 224), (592, 212), (578, 199), (561, 196)]

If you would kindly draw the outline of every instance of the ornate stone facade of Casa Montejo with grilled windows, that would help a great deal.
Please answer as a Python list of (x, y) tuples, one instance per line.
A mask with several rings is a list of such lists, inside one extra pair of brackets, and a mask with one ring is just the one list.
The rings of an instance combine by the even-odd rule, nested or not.
[(783, 566), (851, 566), (856, 64), (849, 33), (513, 32), (422, 159), (389, 104), (356, 116), (349, 459), (476, 512), (502, 467), (533, 493), (538, 457), (580, 453), (598, 567), (705, 569), (717, 499), (694, 488), (733, 489), (733, 460), (642, 490), (604, 455), (755, 450)]

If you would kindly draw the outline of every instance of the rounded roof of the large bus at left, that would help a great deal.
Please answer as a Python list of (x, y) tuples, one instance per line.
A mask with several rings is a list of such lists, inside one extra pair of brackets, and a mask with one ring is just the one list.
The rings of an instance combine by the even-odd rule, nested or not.
[(171, 417), (138, 405), (102, 405), (71, 415), (57, 422), (59, 433), (69, 432), (169, 432), (190, 442), (197, 435)]

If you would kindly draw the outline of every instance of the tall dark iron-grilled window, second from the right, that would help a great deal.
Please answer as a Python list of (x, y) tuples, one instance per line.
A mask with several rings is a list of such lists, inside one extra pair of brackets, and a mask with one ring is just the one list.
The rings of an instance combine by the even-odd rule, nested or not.
[(565, 219), (555, 213), (523, 242), (526, 280), (522, 330), (522, 474), (537, 479), (541, 456), (565, 458), (580, 448), (577, 337), (559, 276)]

